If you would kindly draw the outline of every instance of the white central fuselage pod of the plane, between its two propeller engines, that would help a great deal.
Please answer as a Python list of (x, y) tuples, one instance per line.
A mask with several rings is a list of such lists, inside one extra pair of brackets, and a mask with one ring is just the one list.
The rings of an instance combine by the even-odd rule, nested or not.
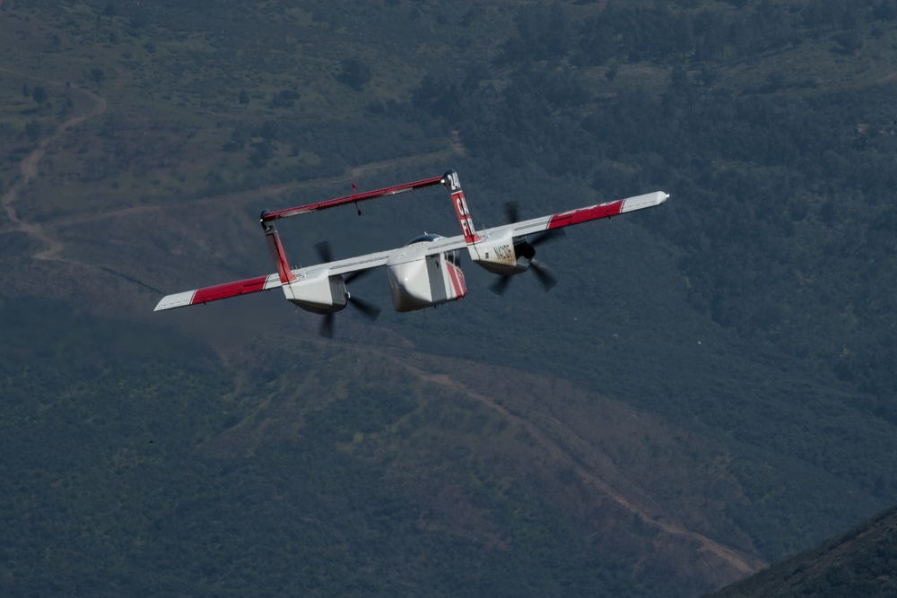
[(454, 252), (427, 256), (424, 245), (402, 247), (389, 256), (387, 274), (396, 311), (435, 307), (467, 294)]

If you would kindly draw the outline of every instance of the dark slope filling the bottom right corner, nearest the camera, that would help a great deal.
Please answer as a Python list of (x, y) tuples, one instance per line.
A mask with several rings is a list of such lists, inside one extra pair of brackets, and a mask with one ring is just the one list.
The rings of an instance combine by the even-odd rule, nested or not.
[(897, 594), (895, 567), (897, 509), (890, 509), (814, 550), (712, 596), (893, 596)]

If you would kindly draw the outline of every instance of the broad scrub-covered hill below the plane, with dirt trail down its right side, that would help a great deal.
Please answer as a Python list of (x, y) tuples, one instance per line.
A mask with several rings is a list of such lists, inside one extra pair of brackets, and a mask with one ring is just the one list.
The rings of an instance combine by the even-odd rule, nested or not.
[[(651, 496), (683, 446), (721, 447), (600, 394), (295, 331), (216, 358), (39, 308), (2, 312), (17, 336), (47, 325), (4, 343), (14, 594), (694, 595), (761, 564)], [(631, 480), (661, 451), (657, 488)]]

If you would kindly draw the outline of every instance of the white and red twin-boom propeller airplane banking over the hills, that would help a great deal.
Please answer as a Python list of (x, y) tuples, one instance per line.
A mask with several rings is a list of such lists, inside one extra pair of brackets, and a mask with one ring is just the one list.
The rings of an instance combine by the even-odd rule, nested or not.
[[(339, 205), (355, 204), (358, 209), (358, 202), (361, 201), (435, 185), (448, 189), (461, 227), (460, 235), (447, 238), (425, 233), (412, 239), (404, 247), (341, 260), (333, 260), (329, 246), (319, 243), (316, 248), (322, 259), (321, 264), (290, 268), (274, 221)], [(536, 260), (537, 245), (557, 238), (563, 234), (565, 227), (573, 224), (657, 207), (668, 198), (669, 195), (663, 191), (655, 191), (525, 221), (518, 221), (516, 206), (509, 204), (508, 224), (476, 230), (457, 172), (448, 170), (441, 177), (346, 195), (318, 204), (262, 212), (259, 221), (274, 258), (276, 273), (167, 295), (159, 301), (154, 311), (205, 304), (261, 290), (283, 289), (286, 299), (295, 306), (325, 316), (319, 334), (332, 338), (334, 314), (347, 305), (358, 308), (370, 319), (376, 319), (379, 315), (379, 308), (353, 297), (346, 290), (349, 282), (375, 268), (386, 268), (393, 308), (397, 312), (431, 308), (463, 299), (467, 294), (467, 287), (459, 253), (465, 248), (475, 264), (500, 276), (492, 286), (492, 290), (499, 294), (507, 288), (512, 276), (527, 270), (536, 273), (545, 290), (550, 290), (556, 279), (544, 264)]]

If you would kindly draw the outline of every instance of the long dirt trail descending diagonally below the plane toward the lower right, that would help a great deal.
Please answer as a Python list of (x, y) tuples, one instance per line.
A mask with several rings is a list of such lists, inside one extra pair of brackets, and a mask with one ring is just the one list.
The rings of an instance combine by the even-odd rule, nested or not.
[[(381, 356), (386, 355), (381, 354)], [(416, 368), (406, 360), (402, 360), (401, 358), (398, 358), (396, 356), (386, 357), (414, 374), (415, 377), (419, 377), (422, 380), (426, 380), (427, 382), (431, 382), (433, 384), (448, 386), (452, 390), (466, 394), (466, 396), (474, 399), (475, 401), (489, 406), (490, 408), (492, 408), (492, 410), (500, 413), (502, 417), (510, 420), (520, 428), (527, 430), (527, 433), (536, 440), (536, 443), (541, 446), (544, 451), (551, 456), (552, 460), (555, 463), (559, 464), (560, 467), (572, 468), (579, 473), (579, 476), (584, 481), (587, 481), (594, 488), (604, 493), (606, 496), (613, 498), (616, 503), (618, 503), (626, 510), (630, 511), (636, 516), (639, 516), (640, 519), (646, 524), (657, 525), (666, 533), (685, 536), (699, 542), (703, 547), (703, 550), (715, 554), (719, 559), (723, 559), (731, 567), (735, 568), (736, 571), (742, 574), (752, 574), (766, 567), (766, 563), (763, 563), (761, 560), (753, 559), (752, 557), (742, 554), (738, 550), (728, 548), (727, 546), (724, 546), (719, 542), (715, 542), (710, 538), (701, 535), (701, 533), (692, 532), (691, 530), (685, 529), (682, 525), (655, 518), (655, 516), (651, 514), (646, 508), (641, 507), (637, 502), (631, 500), (631, 498), (629, 497), (626, 497), (622, 492), (616, 490), (613, 486), (599, 478), (595, 472), (589, 471), (586, 467), (580, 464), (578, 460), (568, 454), (562, 448), (562, 446), (558, 446), (557, 443), (553, 442), (551, 438), (547, 438), (533, 422), (525, 420), (518, 415), (509, 412), (505, 407), (496, 403), (491, 397), (475, 392), (474, 390), (468, 388), (460, 382), (457, 382), (457, 380), (452, 379), (446, 374), (430, 374), (420, 368)]]

